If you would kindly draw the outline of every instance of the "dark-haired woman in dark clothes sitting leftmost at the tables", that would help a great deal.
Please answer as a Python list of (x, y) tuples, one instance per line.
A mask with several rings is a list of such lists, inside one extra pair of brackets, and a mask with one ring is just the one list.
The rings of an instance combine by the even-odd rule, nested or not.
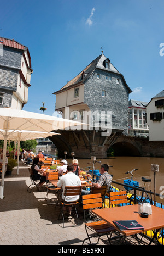
[[(33, 159), (33, 163), (32, 163), (31, 169), (33, 170), (32, 179), (33, 180), (40, 180), (40, 182), (38, 183), (38, 186), (42, 187), (42, 185), (46, 182), (46, 176), (41, 176), (40, 175), (40, 174), (43, 174), (44, 171), (39, 169), (39, 158), (38, 157), (35, 157)], [(38, 172), (40, 174), (38, 174)]]

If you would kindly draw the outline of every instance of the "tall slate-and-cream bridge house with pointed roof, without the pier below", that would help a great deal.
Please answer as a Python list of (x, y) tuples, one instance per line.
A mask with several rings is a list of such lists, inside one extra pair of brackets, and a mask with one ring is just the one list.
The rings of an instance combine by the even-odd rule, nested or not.
[(112, 129), (127, 135), (130, 92), (124, 76), (102, 53), (61, 90), (54, 92), (55, 110), (60, 111), (64, 118), (84, 123), (89, 123), (86, 114), (90, 113), (90, 124), (95, 129), (99, 123), (105, 127), (109, 117)]

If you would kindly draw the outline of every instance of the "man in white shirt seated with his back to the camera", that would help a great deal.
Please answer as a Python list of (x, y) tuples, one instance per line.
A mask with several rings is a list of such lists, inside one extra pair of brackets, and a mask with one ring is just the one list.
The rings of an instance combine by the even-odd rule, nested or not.
[[(62, 191), (58, 192), (58, 199), (63, 202), (64, 199), (68, 203), (77, 202), (79, 196), (64, 196), (65, 186), (81, 186), (81, 181), (79, 176), (73, 174), (73, 165), (67, 166), (67, 174), (61, 176), (60, 180), (57, 182), (57, 187), (62, 187)], [(71, 207), (68, 207), (68, 213), (66, 212), (66, 207), (63, 208), (63, 212), (66, 215), (71, 214)]]

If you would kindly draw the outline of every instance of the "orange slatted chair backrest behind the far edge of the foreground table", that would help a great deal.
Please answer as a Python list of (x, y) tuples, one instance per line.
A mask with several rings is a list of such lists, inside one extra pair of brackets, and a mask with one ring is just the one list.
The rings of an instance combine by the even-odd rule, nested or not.
[(127, 204), (127, 194), (126, 191), (116, 191), (109, 193), (110, 205), (113, 207), (121, 206), (123, 204)]

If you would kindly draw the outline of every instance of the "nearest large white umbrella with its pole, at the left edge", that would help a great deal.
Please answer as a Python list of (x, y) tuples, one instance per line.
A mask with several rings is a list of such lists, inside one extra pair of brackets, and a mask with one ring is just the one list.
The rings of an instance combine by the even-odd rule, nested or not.
[[(57, 118), (56, 116), (43, 115), (12, 108), (0, 108), (0, 129), (4, 130), (3, 152), (6, 152), (7, 150), (7, 140), (10, 138), (9, 134), (11, 135), (11, 133), (14, 132), (9, 132), (10, 129), (41, 132), (51, 132), (53, 130), (64, 129), (80, 130), (82, 124), (83, 123), (73, 120)], [(3, 154), (2, 163), (2, 180), (0, 186), (1, 199), (3, 198), (4, 191), (5, 154)]]

